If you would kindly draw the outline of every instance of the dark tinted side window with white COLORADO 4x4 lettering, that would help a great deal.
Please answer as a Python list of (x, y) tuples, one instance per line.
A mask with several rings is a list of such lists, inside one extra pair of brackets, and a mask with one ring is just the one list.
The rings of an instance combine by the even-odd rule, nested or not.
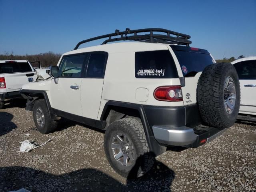
[(135, 53), (136, 78), (178, 78), (178, 72), (169, 50)]

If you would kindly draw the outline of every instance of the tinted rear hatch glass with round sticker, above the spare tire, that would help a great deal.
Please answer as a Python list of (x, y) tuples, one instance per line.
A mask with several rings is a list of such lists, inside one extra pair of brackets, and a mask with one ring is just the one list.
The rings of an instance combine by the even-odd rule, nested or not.
[(171, 45), (182, 69), (184, 77), (193, 77), (202, 72), (214, 60), (207, 50)]

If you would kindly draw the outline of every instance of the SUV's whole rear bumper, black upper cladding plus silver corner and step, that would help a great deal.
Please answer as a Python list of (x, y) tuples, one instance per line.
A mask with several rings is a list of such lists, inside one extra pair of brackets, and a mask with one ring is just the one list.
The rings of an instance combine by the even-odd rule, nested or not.
[(182, 107), (144, 106), (154, 138), (162, 146), (196, 148), (210, 142), (224, 129), (204, 126), (197, 104)]

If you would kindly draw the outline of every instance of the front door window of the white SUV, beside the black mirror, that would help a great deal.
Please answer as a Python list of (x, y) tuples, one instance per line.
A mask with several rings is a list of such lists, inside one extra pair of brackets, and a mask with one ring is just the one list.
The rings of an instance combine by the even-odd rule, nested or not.
[(64, 56), (60, 64), (59, 76), (80, 78), (85, 57), (85, 55)]

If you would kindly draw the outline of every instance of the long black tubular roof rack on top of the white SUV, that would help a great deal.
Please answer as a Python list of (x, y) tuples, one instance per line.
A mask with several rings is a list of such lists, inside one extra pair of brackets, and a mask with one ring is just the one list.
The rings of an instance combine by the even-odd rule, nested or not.
[[(149, 32), (149, 34), (138, 34), (138, 33), (146, 33)], [(166, 34), (154, 34), (153, 32), (162, 32)], [(127, 36), (128, 34), (134, 34)], [(171, 36), (174, 35), (174, 36)], [(120, 37), (116, 37), (120, 36)], [(116, 37), (116, 38), (112, 38)], [(115, 41), (124, 41), (124, 40), (131, 40), (131, 41), (140, 41), (140, 42), (150, 42), (150, 43), (167, 43), (167, 44), (178, 44), (178, 45), (186, 45), (189, 46), (192, 42), (188, 39), (190, 39), (189, 35), (182, 34), (175, 31), (170, 31), (167, 29), (162, 28), (147, 28), (147, 29), (136, 29), (136, 30), (130, 30), (129, 28), (126, 28), (125, 31), (119, 31), (116, 29), (114, 33), (86, 39), (83, 41), (80, 41), (74, 50), (78, 49), (78, 47), (81, 44), (99, 40), (103, 38), (108, 38), (102, 44), (107, 44), (108, 42), (115, 42)]]

